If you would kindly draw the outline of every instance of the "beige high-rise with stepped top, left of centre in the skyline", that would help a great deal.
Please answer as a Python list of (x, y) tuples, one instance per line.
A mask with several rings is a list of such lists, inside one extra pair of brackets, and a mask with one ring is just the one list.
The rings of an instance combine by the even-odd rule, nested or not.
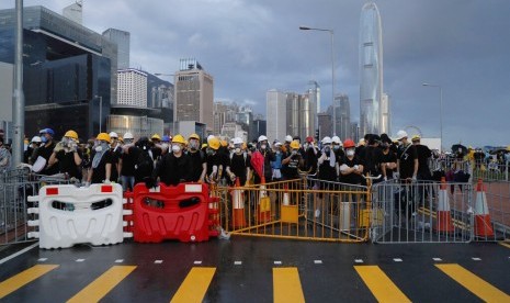
[(195, 59), (181, 59), (175, 74), (174, 121), (196, 121), (214, 128), (214, 78)]

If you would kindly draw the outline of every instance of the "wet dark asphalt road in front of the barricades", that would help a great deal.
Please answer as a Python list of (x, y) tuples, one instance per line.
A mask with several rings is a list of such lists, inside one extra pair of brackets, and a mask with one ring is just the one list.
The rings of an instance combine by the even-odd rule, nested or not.
[[(65, 302), (112, 267), (128, 266), (136, 268), (118, 278), (102, 302), (169, 302), (177, 298), (192, 268), (204, 267), (215, 269), (211, 281), (204, 282), (201, 298), (205, 302), (273, 302), (279, 301), (277, 292), (295, 293), (293, 288), (276, 289), (281, 288), (274, 282), (274, 269), (279, 268), (297, 269), (297, 293), (301, 289), (306, 302), (381, 301), (377, 289), (371, 289), (358, 272), (355, 267), (362, 266), (377, 266), (412, 302), (483, 301), (437, 267), (446, 263), (468, 270), (510, 301), (510, 246), (335, 244), (241, 236), (197, 244), (124, 243), (59, 250), (35, 247), (0, 265), (0, 301)], [(41, 265), (58, 267), (8, 292), (9, 278)], [(192, 289), (199, 280), (190, 280)], [(388, 289), (384, 283), (379, 288)]]

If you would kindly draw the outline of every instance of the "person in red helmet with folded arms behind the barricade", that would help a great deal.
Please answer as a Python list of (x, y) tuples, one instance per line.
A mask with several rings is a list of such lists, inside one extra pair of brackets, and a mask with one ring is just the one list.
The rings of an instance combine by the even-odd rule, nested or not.
[(363, 162), (355, 154), (355, 144), (348, 138), (343, 142), (345, 157), (340, 160), (341, 182), (347, 184), (360, 186), (363, 178)]

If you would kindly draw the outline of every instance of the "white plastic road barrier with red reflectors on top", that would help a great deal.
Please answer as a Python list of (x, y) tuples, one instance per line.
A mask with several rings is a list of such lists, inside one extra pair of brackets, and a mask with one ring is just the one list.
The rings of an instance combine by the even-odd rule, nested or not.
[(38, 214), (29, 226), (38, 226), (39, 231), (29, 233), (29, 237), (39, 238), (41, 248), (117, 244), (133, 236), (123, 232), (123, 215), (132, 211), (123, 210), (120, 184), (46, 186), (38, 193), (29, 197), (29, 201), (38, 202), (38, 207), (27, 212)]

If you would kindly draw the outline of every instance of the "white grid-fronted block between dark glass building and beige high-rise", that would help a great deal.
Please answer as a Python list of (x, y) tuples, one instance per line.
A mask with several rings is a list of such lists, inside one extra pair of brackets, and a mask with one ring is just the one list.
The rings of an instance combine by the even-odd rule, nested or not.
[(117, 104), (147, 108), (147, 72), (128, 68), (117, 71)]

